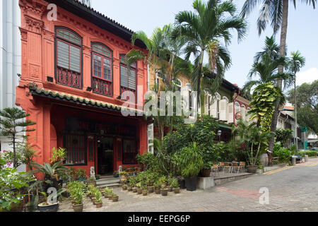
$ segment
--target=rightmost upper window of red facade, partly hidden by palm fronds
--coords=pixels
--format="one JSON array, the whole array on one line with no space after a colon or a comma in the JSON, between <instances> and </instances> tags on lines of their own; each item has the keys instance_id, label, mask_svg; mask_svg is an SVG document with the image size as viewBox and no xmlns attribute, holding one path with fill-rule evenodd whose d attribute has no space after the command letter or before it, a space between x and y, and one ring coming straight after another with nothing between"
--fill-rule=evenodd
<instances>
[{"instance_id":1,"label":"rightmost upper window of red facade, partly hidden by palm fronds","mask_svg":"<svg viewBox=\"0 0 318 226\"><path fill-rule=\"evenodd\" d=\"M137 64L131 64L130 68L126 66L126 57L125 54L120 54L120 93L124 91L131 91L135 95L136 102L136 79L137 79Z\"/></svg>"}]
</instances>

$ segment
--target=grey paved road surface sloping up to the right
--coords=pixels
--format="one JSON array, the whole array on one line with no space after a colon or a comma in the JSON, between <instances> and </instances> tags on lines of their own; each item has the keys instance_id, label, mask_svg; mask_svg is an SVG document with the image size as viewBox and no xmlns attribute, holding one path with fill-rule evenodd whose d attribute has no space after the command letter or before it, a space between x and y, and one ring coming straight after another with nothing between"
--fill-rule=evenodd
<instances>
[{"instance_id":1,"label":"grey paved road surface sloping up to the right","mask_svg":"<svg viewBox=\"0 0 318 226\"><path fill-rule=\"evenodd\" d=\"M259 189L269 189L269 204L259 203ZM102 208L94 208L86 198L84 211L318 211L318 159L307 164L285 167L271 172L215 186L206 191L135 195L121 189L119 202L105 199ZM73 211L64 203L59 211Z\"/></svg>"}]
</instances>

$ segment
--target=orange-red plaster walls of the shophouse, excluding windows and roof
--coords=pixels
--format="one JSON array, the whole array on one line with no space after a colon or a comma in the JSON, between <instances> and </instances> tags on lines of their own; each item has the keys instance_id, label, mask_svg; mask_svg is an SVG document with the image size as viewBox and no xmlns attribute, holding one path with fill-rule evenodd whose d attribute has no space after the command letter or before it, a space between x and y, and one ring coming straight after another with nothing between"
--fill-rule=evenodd
<instances>
[{"instance_id":1,"label":"orange-red plaster walls of the shophouse, excluding windows and roof","mask_svg":"<svg viewBox=\"0 0 318 226\"><path fill-rule=\"evenodd\" d=\"M34 132L30 132L30 144L39 150L36 161L39 163L49 162L53 147L61 145L59 139L59 121L62 112L54 112L53 102L45 98L35 98L30 94L28 84L35 82L38 88L58 91L77 97L91 100L109 102L114 105L122 105L122 100L117 100L120 95L119 88L119 55L126 54L132 49L131 44L121 37L117 37L107 30L69 13L63 8L57 8L57 20L47 19L46 1L20 0L21 9L21 78L16 88L16 105L30 113L29 119L36 121ZM55 81L54 28L62 26L78 33L83 39L83 88L76 89L66 85L59 85ZM113 52L113 96L106 97L86 91L91 86L91 42L100 42L112 49ZM138 47L136 47L138 48ZM140 49L140 48L139 48ZM145 53L146 50L142 49ZM47 76L54 78L53 82L47 81ZM147 64L139 61L137 64L137 85L142 85L143 94L147 91ZM74 106L71 106L74 107ZM95 109L90 109L92 112ZM98 110L101 112L100 110ZM102 112L108 114L108 112ZM92 113L93 114L93 113ZM117 118L118 119L118 118ZM58 121L57 121L58 120ZM63 120L61 120L63 121ZM136 120L135 120L136 121ZM138 119L136 124L139 128L139 145L141 152L147 150L147 123ZM118 162L119 163L119 162Z\"/></svg>"}]
</instances>

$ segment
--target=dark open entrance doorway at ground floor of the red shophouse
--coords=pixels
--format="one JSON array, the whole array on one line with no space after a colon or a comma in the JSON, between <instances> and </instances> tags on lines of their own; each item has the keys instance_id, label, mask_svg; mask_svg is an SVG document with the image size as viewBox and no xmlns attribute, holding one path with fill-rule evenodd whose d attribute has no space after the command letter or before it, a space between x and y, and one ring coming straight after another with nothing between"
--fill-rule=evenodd
<instances>
[{"instance_id":1,"label":"dark open entrance doorway at ground floor of the red shophouse","mask_svg":"<svg viewBox=\"0 0 318 226\"><path fill-rule=\"evenodd\" d=\"M111 175L114 168L114 138L98 139L98 174Z\"/></svg>"}]
</instances>

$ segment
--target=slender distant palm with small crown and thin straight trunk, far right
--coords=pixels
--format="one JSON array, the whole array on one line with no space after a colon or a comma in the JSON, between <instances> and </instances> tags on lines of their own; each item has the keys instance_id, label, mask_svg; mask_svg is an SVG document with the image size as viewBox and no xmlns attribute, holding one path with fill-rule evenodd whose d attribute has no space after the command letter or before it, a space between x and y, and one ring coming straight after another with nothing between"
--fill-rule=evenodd
<instances>
[{"instance_id":1,"label":"slender distant palm with small crown and thin straight trunk, far right","mask_svg":"<svg viewBox=\"0 0 318 226\"><path fill-rule=\"evenodd\" d=\"M294 92L295 92L295 135L294 135L294 143L296 144L296 151L298 152L298 140L297 140L297 95L296 95L296 73L300 71L302 66L305 66L305 57L302 57L299 51L292 52L289 61L288 68L290 73L293 73L294 76Z\"/></svg>"}]
</instances>

